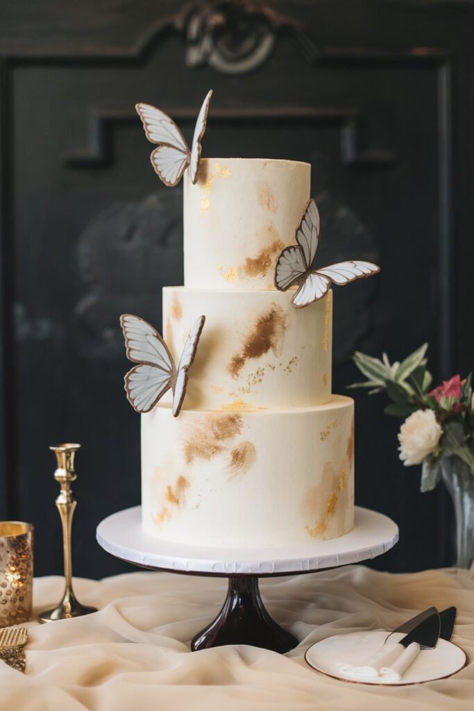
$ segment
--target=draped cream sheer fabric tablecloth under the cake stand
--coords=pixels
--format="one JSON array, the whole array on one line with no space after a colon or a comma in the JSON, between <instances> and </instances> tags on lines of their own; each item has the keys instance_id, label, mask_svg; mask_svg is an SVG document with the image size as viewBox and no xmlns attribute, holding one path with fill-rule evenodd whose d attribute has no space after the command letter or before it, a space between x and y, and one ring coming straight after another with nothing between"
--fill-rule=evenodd
<instances>
[{"instance_id":1,"label":"draped cream sheer fabric tablecloth under the cake stand","mask_svg":"<svg viewBox=\"0 0 474 711\"><path fill-rule=\"evenodd\" d=\"M225 579L153 572L76 579L77 597L99 612L28 623L26 674L0 662L0 709L473 711L472 573L350 566L260 583L270 614L301 640L285 656L249 646L190 652L190 638L220 609ZM62 592L61 578L36 579L36 612ZM304 661L306 648L327 636L393 629L426 606L453 604L453 641L468 665L446 680L373 688L330 679Z\"/></svg>"}]
</instances>

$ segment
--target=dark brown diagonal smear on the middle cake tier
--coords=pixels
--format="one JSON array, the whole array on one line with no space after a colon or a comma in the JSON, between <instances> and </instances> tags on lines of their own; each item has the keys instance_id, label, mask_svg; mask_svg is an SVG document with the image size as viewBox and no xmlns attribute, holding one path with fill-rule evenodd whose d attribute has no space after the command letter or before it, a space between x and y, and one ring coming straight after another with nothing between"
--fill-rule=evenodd
<instances>
[{"instance_id":1,"label":"dark brown diagonal smear on the middle cake tier","mask_svg":"<svg viewBox=\"0 0 474 711\"><path fill-rule=\"evenodd\" d=\"M260 358L269 351L280 355L286 326L286 315L281 306L271 304L269 311L257 317L252 330L244 338L241 351L234 355L227 366L232 378L238 377L247 360Z\"/></svg>"}]
</instances>

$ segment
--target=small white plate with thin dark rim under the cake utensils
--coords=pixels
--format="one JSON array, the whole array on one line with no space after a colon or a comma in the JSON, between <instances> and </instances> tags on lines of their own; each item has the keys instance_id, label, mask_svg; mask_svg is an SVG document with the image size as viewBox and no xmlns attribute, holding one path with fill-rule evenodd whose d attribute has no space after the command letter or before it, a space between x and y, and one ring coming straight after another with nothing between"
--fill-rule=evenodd
<instances>
[{"instance_id":1,"label":"small white plate with thin dark rim under the cake utensils","mask_svg":"<svg viewBox=\"0 0 474 711\"><path fill-rule=\"evenodd\" d=\"M360 665L368 659L384 643L389 632L370 630L366 632L351 632L339 634L316 642L306 651L306 661L313 669L336 679L349 681L353 684L383 684L387 686L406 686L424 681L443 679L455 674L463 668L466 661L465 653L456 644L439 639L434 649L422 649L414 662L406 670L398 682L383 678L373 681L354 681L340 675L341 664ZM390 640L397 641L404 635L392 635Z\"/></svg>"}]
</instances>

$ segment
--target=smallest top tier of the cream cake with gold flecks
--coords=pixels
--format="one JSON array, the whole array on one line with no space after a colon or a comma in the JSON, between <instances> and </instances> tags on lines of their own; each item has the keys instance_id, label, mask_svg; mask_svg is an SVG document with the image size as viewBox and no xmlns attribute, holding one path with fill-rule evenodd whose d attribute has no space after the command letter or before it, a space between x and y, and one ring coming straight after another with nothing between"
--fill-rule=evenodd
<instances>
[{"instance_id":1,"label":"smallest top tier of the cream cake with gold flecks","mask_svg":"<svg viewBox=\"0 0 474 711\"><path fill-rule=\"evenodd\" d=\"M195 185L185 171L185 287L274 289L310 189L311 166L298 161L204 158Z\"/></svg>"}]
</instances>

